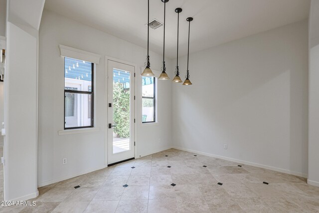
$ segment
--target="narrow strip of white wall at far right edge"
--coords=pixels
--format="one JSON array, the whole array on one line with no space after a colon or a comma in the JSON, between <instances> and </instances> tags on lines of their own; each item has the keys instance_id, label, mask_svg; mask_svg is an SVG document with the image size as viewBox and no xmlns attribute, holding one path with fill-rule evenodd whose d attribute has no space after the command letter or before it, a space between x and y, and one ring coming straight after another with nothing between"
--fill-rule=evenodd
<instances>
[{"instance_id":1,"label":"narrow strip of white wall at far right edge","mask_svg":"<svg viewBox=\"0 0 319 213\"><path fill-rule=\"evenodd\" d=\"M319 1L311 1L309 15L309 177L319 187Z\"/></svg>"}]
</instances>

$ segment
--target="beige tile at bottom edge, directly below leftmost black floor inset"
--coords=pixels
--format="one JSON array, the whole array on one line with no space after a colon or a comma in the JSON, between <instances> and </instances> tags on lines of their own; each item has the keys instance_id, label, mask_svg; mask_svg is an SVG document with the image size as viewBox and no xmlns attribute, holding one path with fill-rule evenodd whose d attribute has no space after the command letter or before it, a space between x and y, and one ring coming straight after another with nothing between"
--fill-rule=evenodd
<instances>
[{"instance_id":1,"label":"beige tile at bottom edge, directly below leftmost black floor inset","mask_svg":"<svg viewBox=\"0 0 319 213\"><path fill-rule=\"evenodd\" d=\"M90 202L61 202L52 213L83 213Z\"/></svg>"}]
</instances>

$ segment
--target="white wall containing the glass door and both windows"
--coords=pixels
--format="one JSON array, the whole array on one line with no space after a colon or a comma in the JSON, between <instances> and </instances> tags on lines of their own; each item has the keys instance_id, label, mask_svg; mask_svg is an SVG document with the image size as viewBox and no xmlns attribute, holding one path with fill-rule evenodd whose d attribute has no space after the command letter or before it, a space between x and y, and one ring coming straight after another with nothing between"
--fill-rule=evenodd
<instances>
[{"instance_id":1,"label":"white wall containing the glass door and both windows","mask_svg":"<svg viewBox=\"0 0 319 213\"><path fill-rule=\"evenodd\" d=\"M64 59L58 44L71 46L102 55L96 66L95 125L98 132L63 135ZM44 10L39 30L39 131L38 185L64 180L104 168L104 136L107 114L105 100L105 56L137 64L136 90L138 113L137 155L145 156L171 147L171 82L158 84L158 124L142 122L142 77L147 50L81 24L51 11ZM160 70L161 56L151 53L151 67ZM169 63L167 63L169 65ZM168 70L170 70L168 68ZM161 142L159 143L159 139ZM62 166L62 158L68 163Z\"/></svg>"}]
</instances>

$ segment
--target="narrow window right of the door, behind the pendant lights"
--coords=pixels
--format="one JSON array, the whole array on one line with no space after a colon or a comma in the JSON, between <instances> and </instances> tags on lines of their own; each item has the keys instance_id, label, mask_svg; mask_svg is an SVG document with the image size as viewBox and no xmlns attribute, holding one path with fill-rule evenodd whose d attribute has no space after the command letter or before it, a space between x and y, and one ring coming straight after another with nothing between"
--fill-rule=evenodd
<instances>
[{"instance_id":1,"label":"narrow window right of the door, behind the pendant lights","mask_svg":"<svg viewBox=\"0 0 319 213\"><path fill-rule=\"evenodd\" d=\"M155 122L155 77L142 77L142 123Z\"/></svg>"}]
</instances>

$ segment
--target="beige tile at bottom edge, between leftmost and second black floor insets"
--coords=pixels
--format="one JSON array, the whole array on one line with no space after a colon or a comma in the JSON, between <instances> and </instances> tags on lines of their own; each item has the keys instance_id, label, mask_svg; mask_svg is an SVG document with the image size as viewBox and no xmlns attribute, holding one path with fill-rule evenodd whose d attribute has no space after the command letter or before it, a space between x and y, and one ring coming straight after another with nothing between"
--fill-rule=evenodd
<instances>
[{"instance_id":1,"label":"beige tile at bottom edge, between leftmost and second black floor insets","mask_svg":"<svg viewBox=\"0 0 319 213\"><path fill-rule=\"evenodd\" d=\"M119 201L91 201L84 213L115 213Z\"/></svg>"}]
</instances>

